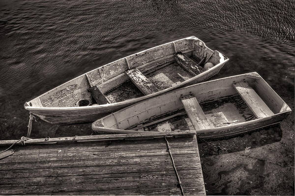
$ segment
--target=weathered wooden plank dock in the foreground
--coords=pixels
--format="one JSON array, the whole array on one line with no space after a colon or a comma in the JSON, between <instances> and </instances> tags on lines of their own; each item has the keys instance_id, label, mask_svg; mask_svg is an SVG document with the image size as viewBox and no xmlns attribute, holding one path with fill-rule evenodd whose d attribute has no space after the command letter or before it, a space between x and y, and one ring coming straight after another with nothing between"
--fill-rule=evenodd
<instances>
[{"instance_id":1,"label":"weathered wooden plank dock in the foreground","mask_svg":"<svg viewBox=\"0 0 295 196\"><path fill-rule=\"evenodd\" d=\"M165 137L184 195L206 195L195 131L19 142L0 160L0 195L181 195Z\"/></svg>"}]
</instances>

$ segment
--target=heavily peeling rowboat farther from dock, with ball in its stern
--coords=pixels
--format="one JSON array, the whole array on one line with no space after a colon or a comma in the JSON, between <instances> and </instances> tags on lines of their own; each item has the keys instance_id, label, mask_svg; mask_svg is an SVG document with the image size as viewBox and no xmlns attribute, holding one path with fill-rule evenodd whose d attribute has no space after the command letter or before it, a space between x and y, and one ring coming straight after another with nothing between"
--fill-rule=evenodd
<instances>
[{"instance_id":1,"label":"heavily peeling rowboat farther from dock, with ball in its stern","mask_svg":"<svg viewBox=\"0 0 295 196\"><path fill-rule=\"evenodd\" d=\"M205 81L228 60L200 39L187 37L91 70L26 102L25 108L49 123L93 122L141 100ZM214 66L204 70L206 63Z\"/></svg>"}]
</instances>

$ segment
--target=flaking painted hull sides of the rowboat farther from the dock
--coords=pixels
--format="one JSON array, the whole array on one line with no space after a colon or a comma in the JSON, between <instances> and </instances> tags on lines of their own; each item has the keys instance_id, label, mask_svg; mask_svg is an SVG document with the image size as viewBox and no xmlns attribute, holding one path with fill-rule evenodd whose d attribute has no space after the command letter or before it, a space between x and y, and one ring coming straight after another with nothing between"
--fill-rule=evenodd
<instances>
[{"instance_id":1,"label":"flaking painted hull sides of the rowboat farther from the dock","mask_svg":"<svg viewBox=\"0 0 295 196\"><path fill-rule=\"evenodd\" d=\"M197 43L200 43L200 46L205 48L207 52L211 52L211 54L214 57L212 58L212 61L213 60L217 61L214 67L196 76L193 76L187 80L177 83L176 85L172 85L171 87L167 89L160 90L156 93L152 93L146 96L127 99L127 100L116 102L116 103L102 104L102 105L94 104L94 105L82 106L82 107L77 107L73 105L79 99L89 99L89 98L91 99L91 95L87 91L89 86L88 86L88 82L86 78L89 79L92 85L97 85L98 87L100 87L103 93L107 92L111 88L113 88L110 85L113 85L114 83L116 83L116 85L118 83L119 85L120 83L126 80L126 74L124 71L128 68L139 67L139 69L146 71L149 65L153 65L155 67L155 66L159 66L160 64L165 64L169 61L174 60L173 54L175 49L173 49L172 47L173 44L174 46L176 45L179 48L177 49L177 51L181 49L181 51L183 52L189 51L189 53L191 54L194 54L194 53L197 54L198 51L196 51L197 49L194 49L194 48L197 46L199 47L199 45L197 46L193 45L193 49L187 46L189 45L187 43L191 43L191 42L196 44L195 41L198 41ZM167 54L163 53L162 50L160 50L159 48L160 49L163 48L163 50L165 50ZM152 52L155 52L155 55L153 55ZM148 60L145 59L145 56L147 56ZM215 58L217 58L217 60L215 60ZM33 113L34 115L37 115L38 117L40 117L42 120L49 123L53 123L53 124L73 124L73 123L93 122L98 118L101 118L112 112L118 111L119 109L127 107L131 104L137 103L139 101L143 101L145 99L148 99L157 95L161 95L163 93L166 93L171 90L175 90L177 88L181 88L191 84L196 84L202 81L206 81L210 77L216 75L228 60L229 59L224 57L218 51L212 51L208 49L207 46L198 38L188 37L188 38L180 39L167 44L163 44L163 45L145 50L143 52L136 53L134 55L130 55L116 62L110 63L108 65L104 65L102 67L89 71L86 74L83 74L77 78L74 78L73 80L70 80L69 82L62 84L59 87L37 98L34 98L31 101L28 101L27 103L25 103L25 108L29 110L31 113ZM138 61L140 61L140 63ZM124 62L125 63L127 62L128 67L127 65L122 65L122 67L124 68L121 68L120 63L124 63ZM114 71L111 72L110 67L113 68L112 70ZM118 69L122 69L122 70L118 71ZM104 71L109 74L104 73ZM98 79L95 78L97 77L96 73L99 73L98 75L100 78ZM113 78L110 78L110 73L114 74ZM73 88L74 90L71 90L71 88ZM57 94L59 97L57 96ZM70 106L67 106L66 104L64 104L67 102L68 102L68 105Z\"/></svg>"}]
</instances>

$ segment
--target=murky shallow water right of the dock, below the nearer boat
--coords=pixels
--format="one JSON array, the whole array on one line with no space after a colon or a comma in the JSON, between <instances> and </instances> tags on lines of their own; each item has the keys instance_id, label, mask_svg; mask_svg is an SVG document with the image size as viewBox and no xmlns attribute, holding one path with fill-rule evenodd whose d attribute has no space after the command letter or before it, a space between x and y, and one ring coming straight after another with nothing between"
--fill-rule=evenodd
<instances>
[{"instance_id":1,"label":"murky shallow water right of the dock, below the nearer boat","mask_svg":"<svg viewBox=\"0 0 295 196\"><path fill-rule=\"evenodd\" d=\"M294 112L288 121L210 141L230 153L199 142L207 195L292 195L294 180L287 176L294 177Z\"/></svg>"}]
</instances>

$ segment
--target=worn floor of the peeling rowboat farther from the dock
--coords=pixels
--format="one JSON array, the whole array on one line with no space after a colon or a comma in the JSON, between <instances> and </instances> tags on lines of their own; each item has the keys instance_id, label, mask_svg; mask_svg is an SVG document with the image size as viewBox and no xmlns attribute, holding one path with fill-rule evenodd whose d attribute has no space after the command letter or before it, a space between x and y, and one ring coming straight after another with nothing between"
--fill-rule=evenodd
<instances>
[{"instance_id":1,"label":"worn floor of the peeling rowboat farther from the dock","mask_svg":"<svg viewBox=\"0 0 295 196\"><path fill-rule=\"evenodd\" d=\"M193 58L191 57L191 59ZM194 59L194 61L197 60ZM158 91L167 89L177 82L183 82L184 80L193 77L191 73L178 65L177 62L162 66L144 76ZM131 80L122 83L117 88L105 94L111 103L124 101L130 98L139 98L144 95L145 94L141 92L140 88Z\"/></svg>"}]
</instances>

